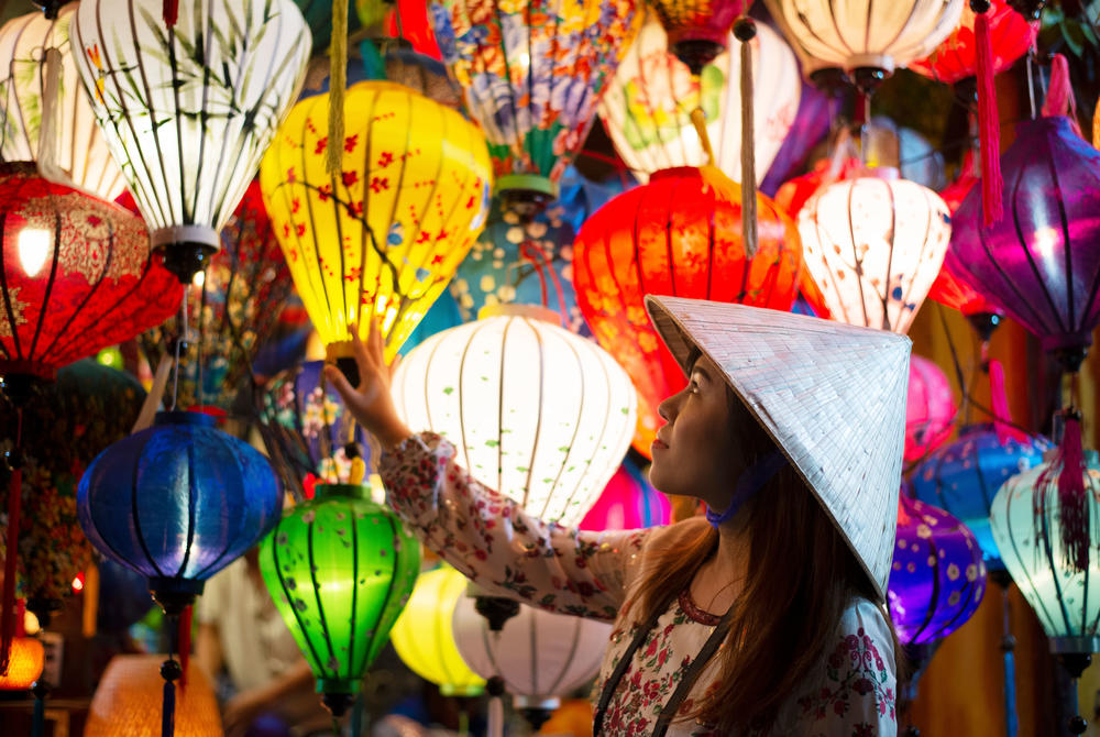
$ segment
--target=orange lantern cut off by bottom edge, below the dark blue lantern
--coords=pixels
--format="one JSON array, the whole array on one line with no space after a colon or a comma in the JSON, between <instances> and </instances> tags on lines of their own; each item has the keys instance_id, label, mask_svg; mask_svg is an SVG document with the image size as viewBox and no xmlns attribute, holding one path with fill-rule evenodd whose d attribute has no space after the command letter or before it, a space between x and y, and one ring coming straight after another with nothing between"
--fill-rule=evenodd
<instances>
[{"instance_id":1,"label":"orange lantern cut off by bottom edge, below the dark blue lantern","mask_svg":"<svg viewBox=\"0 0 1100 737\"><path fill-rule=\"evenodd\" d=\"M161 733L161 663L164 656L116 656L88 707L85 737L150 737ZM221 737L218 700L194 659L187 688L176 689L175 737Z\"/></svg>"}]
</instances>

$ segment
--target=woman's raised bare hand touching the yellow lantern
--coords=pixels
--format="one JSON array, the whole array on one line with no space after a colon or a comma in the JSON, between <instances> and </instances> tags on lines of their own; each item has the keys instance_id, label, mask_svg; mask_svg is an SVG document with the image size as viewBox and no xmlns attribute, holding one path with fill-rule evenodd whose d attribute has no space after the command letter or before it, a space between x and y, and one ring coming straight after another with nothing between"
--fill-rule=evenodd
<instances>
[{"instance_id":1,"label":"woman's raised bare hand touching the yellow lantern","mask_svg":"<svg viewBox=\"0 0 1100 737\"><path fill-rule=\"evenodd\" d=\"M352 388L348 378L338 367L324 366L324 378L336 387L352 417L373 435L383 448L391 449L413 435L397 416L397 408L391 395L393 365L386 365L382 350L382 328L377 320L371 323L371 332L364 343L359 339L359 329L352 326L352 352L359 366L359 386Z\"/></svg>"}]
</instances>

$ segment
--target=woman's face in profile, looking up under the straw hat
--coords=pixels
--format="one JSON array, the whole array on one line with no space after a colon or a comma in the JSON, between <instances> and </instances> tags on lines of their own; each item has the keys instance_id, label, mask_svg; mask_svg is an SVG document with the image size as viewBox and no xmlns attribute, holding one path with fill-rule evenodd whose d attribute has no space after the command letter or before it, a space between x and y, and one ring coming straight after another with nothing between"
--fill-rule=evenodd
<instances>
[{"instance_id":1,"label":"woman's face in profile, looking up under the straw hat","mask_svg":"<svg viewBox=\"0 0 1100 737\"><path fill-rule=\"evenodd\" d=\"M666 494L695 496L719 510L728 506L746 465L722 376L701 355L688 386L661 403L658 411L666 425L651 446L649 470L650 483Z\"/></svg>"}]
</instances>

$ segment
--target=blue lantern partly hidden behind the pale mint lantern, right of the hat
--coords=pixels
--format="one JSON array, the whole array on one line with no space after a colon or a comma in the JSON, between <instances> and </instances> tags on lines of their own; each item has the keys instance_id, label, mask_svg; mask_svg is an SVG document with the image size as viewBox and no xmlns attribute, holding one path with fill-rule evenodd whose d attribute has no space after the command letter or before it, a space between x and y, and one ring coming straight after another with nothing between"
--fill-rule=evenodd
<instances>
[{"instance_id":1,"label":"blue lantern partly hidden behind the pale mint lantern, right of the hat","mask_svg":"<svg viewBox=\"0 0 1100 737\"><path fill-rule=\"evenodd\" d=\"M1038 465L1049 447L1040 436L972 425L913 470L913 491L919 499L963 520L978 540L990 570L1001 570L1002 551L989 531L989 505L1001 484Z\"/></svg>"}]
</instances>

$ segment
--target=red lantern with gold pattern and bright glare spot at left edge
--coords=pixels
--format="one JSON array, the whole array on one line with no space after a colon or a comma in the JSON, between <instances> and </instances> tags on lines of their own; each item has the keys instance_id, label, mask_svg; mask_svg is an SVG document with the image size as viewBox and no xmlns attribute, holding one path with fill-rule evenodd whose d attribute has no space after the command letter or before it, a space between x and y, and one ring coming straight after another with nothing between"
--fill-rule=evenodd
<instances>
[{"instance_id":1,"label":"red lantern with gold pattern and bright glare spot at left edge","mask_svg":"<svg viewBox=\"0 0 1100 737\"><path fill-rule=\"evenodd\" d=\"M180 288L150 252L141 220L0 164L0 374L51 380L59 366L163 321Z\"/></svg>"}]
</instances>

